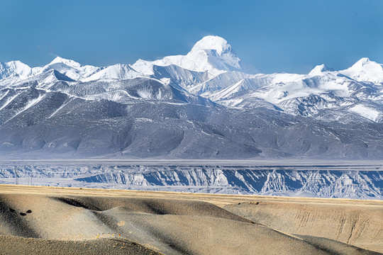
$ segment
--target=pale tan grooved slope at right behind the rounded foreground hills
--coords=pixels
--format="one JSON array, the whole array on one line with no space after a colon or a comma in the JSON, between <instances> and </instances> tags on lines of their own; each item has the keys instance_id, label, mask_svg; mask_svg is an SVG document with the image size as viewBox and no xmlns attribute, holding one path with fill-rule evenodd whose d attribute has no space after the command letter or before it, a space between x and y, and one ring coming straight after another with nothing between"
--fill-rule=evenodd
<instances>
[{"instance_id":1,"label":"pale tan grooved slope at right behind the rounded foreground hills","mask_svg":"<svg viewBox=\"0 0 383 255\"><path fill-rule=\"evenodd\" d=\"M342 204L343 202L343 204ZM226 205L229 212L241 215L278 231L326 237L365 249L382 251L383 211L376 205L360 208L338 201L334 208L328 200L315 203L260 201Z\"/></svg>"}]
</instances>

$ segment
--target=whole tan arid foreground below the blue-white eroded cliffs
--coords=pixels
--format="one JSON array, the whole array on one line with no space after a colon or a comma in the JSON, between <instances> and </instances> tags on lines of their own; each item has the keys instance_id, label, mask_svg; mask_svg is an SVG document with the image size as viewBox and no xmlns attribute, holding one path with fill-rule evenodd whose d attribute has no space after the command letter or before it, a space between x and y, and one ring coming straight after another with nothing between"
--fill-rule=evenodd
<instances>
[{"instance_id":1,"label":"whole tan arid foreground below the blue-white eroded cliffs","mask_svg":"<svg viewBox=\"0 0 383 255\"><path fill-rule=\"evenodd\" d=\"M0 186L1 254L379 254L383 201Z\"/></svg>"}]
</instances>

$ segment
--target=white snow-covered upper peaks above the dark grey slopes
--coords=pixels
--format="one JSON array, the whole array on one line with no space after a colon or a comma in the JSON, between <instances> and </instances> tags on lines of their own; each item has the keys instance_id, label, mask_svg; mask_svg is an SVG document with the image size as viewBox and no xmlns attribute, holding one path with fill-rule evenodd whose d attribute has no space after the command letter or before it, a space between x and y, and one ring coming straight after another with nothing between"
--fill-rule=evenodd
<instances>
[{"instance_id":1,"label":"white snow-covered upper peaks above the dark grey slopes","mask_svg":"<svg viewBox=\"0 0 383 255\"><path fill-rule=\"evenodd\" d=\"M74 80L68 84L99 79L113 81L110 89L113 87L115 94L110 92L107 96L113 101L134 98L121 93L114 81L145 77L235 108L272 103L297 114L297 102L311 100L308 107L316 110L355 105L349 109L350 113L382 121L379 111L374 109L382 108L383 65L367 57L340 71L321 64L309 74L253 74L225 39L209 35L196 42L187 55L167 56L155 61L138 60L132 65L83 66L62 57L56 57L44 67L30 68L20 61L0 63L0 88L24 87L27 82L37 81L38 87L49 89L60 77L52 75L52 70ZM138 93L142 98L152 98L145 89ZM98 96L105 98L105 95ZM156 98L162 98L162 95ZM371 107L360 101L370 103L367 105Z\"/></svg>"}]
</instances>

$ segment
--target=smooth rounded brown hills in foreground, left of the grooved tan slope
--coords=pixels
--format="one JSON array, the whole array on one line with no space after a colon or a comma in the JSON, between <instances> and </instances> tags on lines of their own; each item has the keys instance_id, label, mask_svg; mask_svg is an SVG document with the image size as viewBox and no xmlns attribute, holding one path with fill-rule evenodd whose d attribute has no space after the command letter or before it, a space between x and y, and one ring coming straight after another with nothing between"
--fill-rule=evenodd
<instances>
[{"instance_id":1,"label":"smooth rounded brown hills in foreground, left of the grooved tan slope","mask_svg":"<svg viewBox=\"0 0 383 255\"><path fill-rule=\"evenodd\" d=\"M0 234L61 241L116 238L162 254L374 254L279 232L199 200L1 195ZM27 212L21 216L18 213Z\"/></svg>"}]
</instances>

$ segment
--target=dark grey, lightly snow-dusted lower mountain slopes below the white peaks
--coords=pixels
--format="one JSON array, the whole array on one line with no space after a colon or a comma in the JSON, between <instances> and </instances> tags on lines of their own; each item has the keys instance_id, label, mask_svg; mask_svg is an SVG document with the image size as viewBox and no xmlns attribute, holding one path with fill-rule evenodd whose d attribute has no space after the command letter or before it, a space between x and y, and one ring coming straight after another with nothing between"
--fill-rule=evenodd
<instances>
[{"instance_id":1,"label":"dark grey, lightly snow-dusted lower mountain slopes below the white peaks","mask_svg":"<svg viewBox=\"0 0 383 255\"><path fill-rule=\"evenodd\" d=\"M49 86L1 90L2 156L383 158L382 123L228 108L145 78Z\"/></svg>"}]
</instances>

